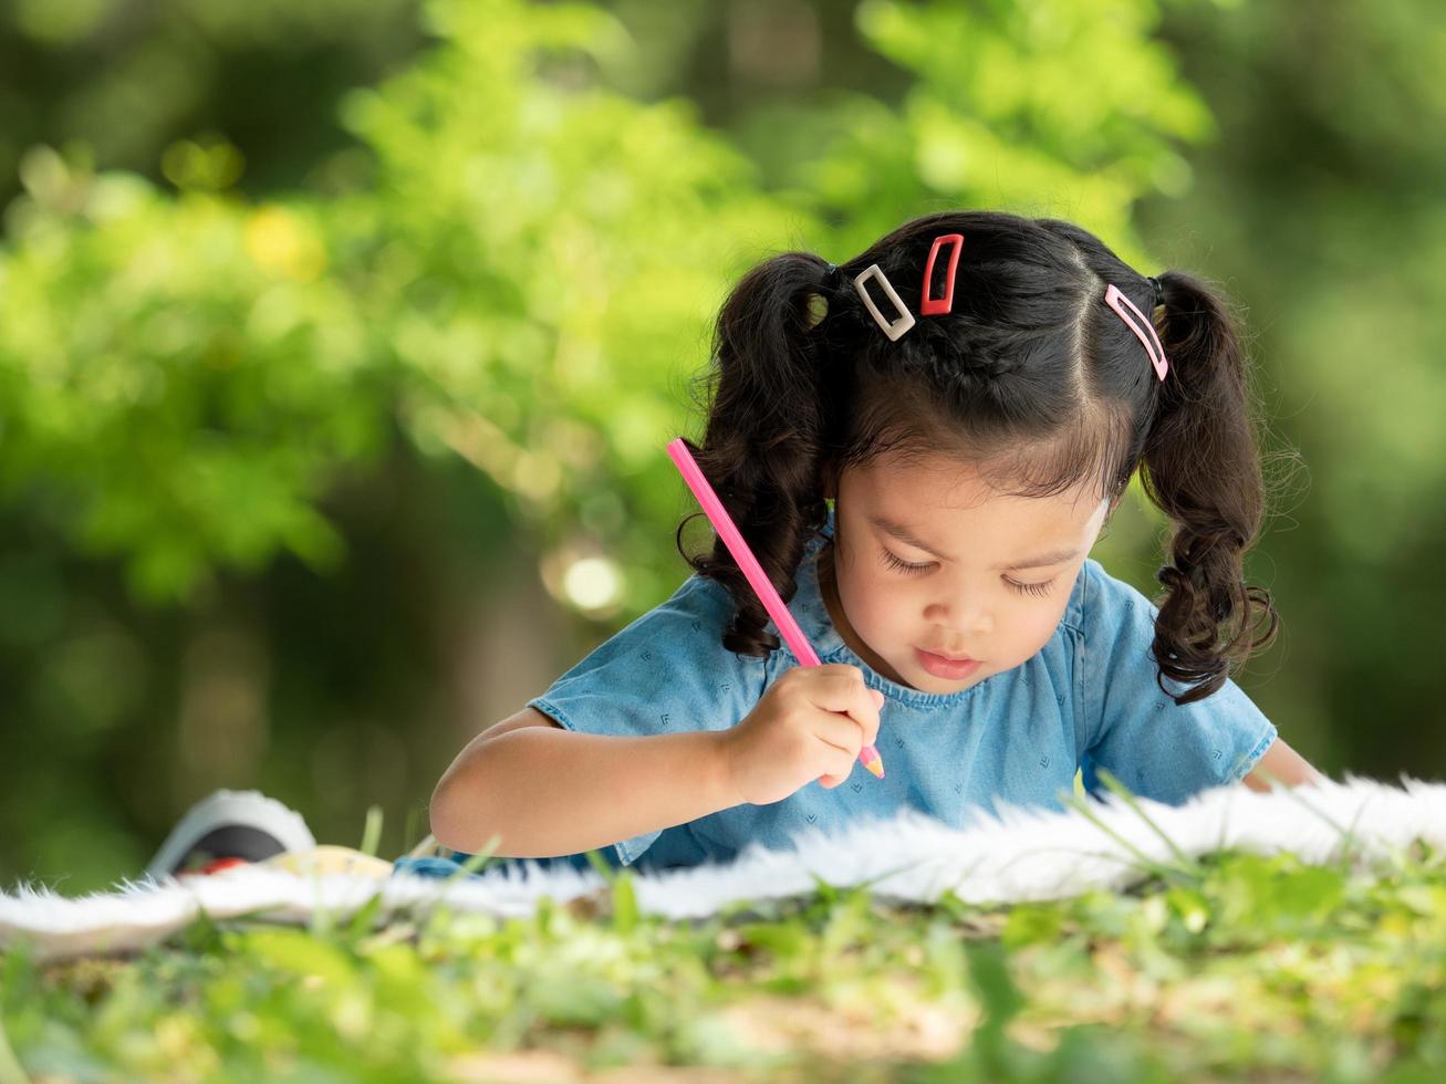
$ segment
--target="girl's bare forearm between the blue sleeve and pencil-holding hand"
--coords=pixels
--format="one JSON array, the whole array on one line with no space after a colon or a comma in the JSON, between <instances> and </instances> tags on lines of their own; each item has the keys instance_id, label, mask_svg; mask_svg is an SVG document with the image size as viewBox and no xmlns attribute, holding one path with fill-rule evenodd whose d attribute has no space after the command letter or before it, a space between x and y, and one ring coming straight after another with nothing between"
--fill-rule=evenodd
<instances>
[{"instance_id":1,"label":"girl's bare forearm between the blue sleeve and pencil-holding hand","mask_svg":"<svg viewBox=\"0 0 1446 1084\"><path fill-rule=\"evenodd\" d=\"M432 792L442 847L548 859L606 847L737 805L720 739L727 731L646 737L564 730L536 708L474 737Z\"/></svg>"}]
</instances>

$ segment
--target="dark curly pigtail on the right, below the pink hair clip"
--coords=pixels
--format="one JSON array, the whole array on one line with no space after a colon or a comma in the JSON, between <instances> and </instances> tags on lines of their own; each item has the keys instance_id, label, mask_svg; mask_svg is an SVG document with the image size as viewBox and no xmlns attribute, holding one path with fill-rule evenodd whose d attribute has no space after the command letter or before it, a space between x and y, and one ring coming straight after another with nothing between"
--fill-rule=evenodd
<instances>
[{"instance_id":1,"label":"dark curly pigtail on the right, below the pink hair clip","mask_svg":"<svg viewBox=\"0 0 1446 1084\"><path fill-rule=\"evenodd\" d=\"M1203 700L1275 639L1270 591L1245 582L1265 494L1245 357L1223 304L1193 276L1161 276L1164 318L1155 327L1170 358L1158 387L1139 480L1173 520L1167 588L1155 620L1160 688L1177 704ZM1262 620L1268 629L1251 639ZM1225 637L1222 642L1222 626ZM1193 684L1176 697L1164 676Z\"/></svg>"}]
</instances>

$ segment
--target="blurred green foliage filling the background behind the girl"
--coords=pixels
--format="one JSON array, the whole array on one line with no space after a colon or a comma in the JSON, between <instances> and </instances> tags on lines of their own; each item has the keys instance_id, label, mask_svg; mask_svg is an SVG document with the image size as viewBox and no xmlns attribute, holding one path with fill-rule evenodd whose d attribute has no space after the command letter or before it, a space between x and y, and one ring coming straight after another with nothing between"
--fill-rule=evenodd
<instances>
[{"instance_id":1,"label":"blurred green foliage filling the background behind the girl","mask_svg":"<svg viewBox=\"0 0 1446 1084\"><path fill-rule=\"evenodd\" d=\"M1325 23L1407 48L1403 7ZM662 448L697 432L690 380L736 276L790 247L844 259L957 205L1071 218L1144 273L1225 279L1262 314L1258 361L1290 396L1267 409L1332 481L1299 510L1312 530L1252 558L1287 636L1268 682L1241 681L1326 770L1365 749L1378 769L1442 763L1434 736L1352 739L1346 707L1394 695L1378 736L1406 740L1434 688L1395 648L1413 630L1424 661L1439 593L1390 590L1407 556L1429 568L1442 512L1430 330L1401 319L1427 296L1432 234L1390 217L1392 192L1420 189L1411 169L1287 204L1312 149L1343 158L1361 133L1394 160L1407 130L1281 119L1329 111L1307 98L1333 71L1310 39L1251 32L1294 27L1283 4L1178 3L1160 26L1150 0L171 0L146 17L139 35L104 0L20 4L0 39L38 91L16 94L12 68L0 95L30 133L0 145L17 182L0 246L6 879L132 873L218 785L275 793L322 838L373 802L393 827L409 811L382 844L403 848L466 736L541 691L467 715L469 598L521 572L574 611L541 681L685 574L672 532L693 506ZM1242 94L1251 78L1270 94ZM161 103L114 106L152 87ZM189 104L162 116L178 88ZM1242 139L1261 113L1274 126ZM1439 223L1416 205L1417 228ZM1323 227L1346 221L1371 228ZM1381 240L1420 253L1414 293L1361 275ZM1379 397L1361 392L1366 345L1388 347ZM1137 502L1096 552L1152 591L1161 530Z\"/></svg>"}]
</instances>

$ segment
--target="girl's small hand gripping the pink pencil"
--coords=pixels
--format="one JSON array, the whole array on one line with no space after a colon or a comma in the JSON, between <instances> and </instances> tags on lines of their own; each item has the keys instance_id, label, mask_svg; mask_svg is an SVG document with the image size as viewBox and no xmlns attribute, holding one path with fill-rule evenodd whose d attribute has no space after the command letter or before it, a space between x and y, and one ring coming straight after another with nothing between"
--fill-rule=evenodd
<instances>
[{"instance_id":1,"label":"girl's small hand gripping the pink pencil","mask_svg":"<svg viewBox=\"0 0 1446 1084\"><path fill-rule=\"evenodd\" d=\"M769 805L817 779L834 788L879 733L884 694L842 662L794 666L775 681L719 750L739 804Z\"/></svg>"}]
</instances>

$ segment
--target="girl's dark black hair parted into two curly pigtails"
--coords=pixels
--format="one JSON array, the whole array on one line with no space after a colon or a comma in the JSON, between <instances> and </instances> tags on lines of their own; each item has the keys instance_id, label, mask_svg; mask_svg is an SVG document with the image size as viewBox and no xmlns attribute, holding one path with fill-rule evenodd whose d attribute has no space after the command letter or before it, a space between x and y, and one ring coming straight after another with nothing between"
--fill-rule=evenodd
<instances>
[{"instance_id":1,"label":"girl's dark black hair parted into two curly pigtails","mask_svg":"<svg viewBox=\"0 0 1446 1084\"><path fill-rule=\"evenodd\" d=\"M930 249L951 233L964 236L951 311L921 315ZM944 293L949 254L944 246L936 259L930 296ZM873 263L915 317L898 341L853 288ZM1232 661L1274 642L1270 591L1244 580L1265 494L1246 358L1222 293L1168 270L1157 311L1154 285L1089 231L996 211L915 218L829 269L787 251L743 275L698 379L703 444L687 442L785 601L827 522L824 481L844 468L947 454L975 463L1001 493L1044 497L1092 483L1113 507L1138 467L1173 522L1157 575L1167 588L1152 645L1160 688L1178 704L1203 700ZM1111 283L1151 317L1170 360L1163 382L1105 304ZM897 315L876 280L866 288L886 319ZM766 656L778 637L763 632L768 611L723 541L714 536L709 554L683 551L698 515L678 526L678 549L736 603L723 646ZM1251 639L1261 620L1268 629ZM1164 675L1192 688L1174 695Z\"/></svg>"}]
</instances>

